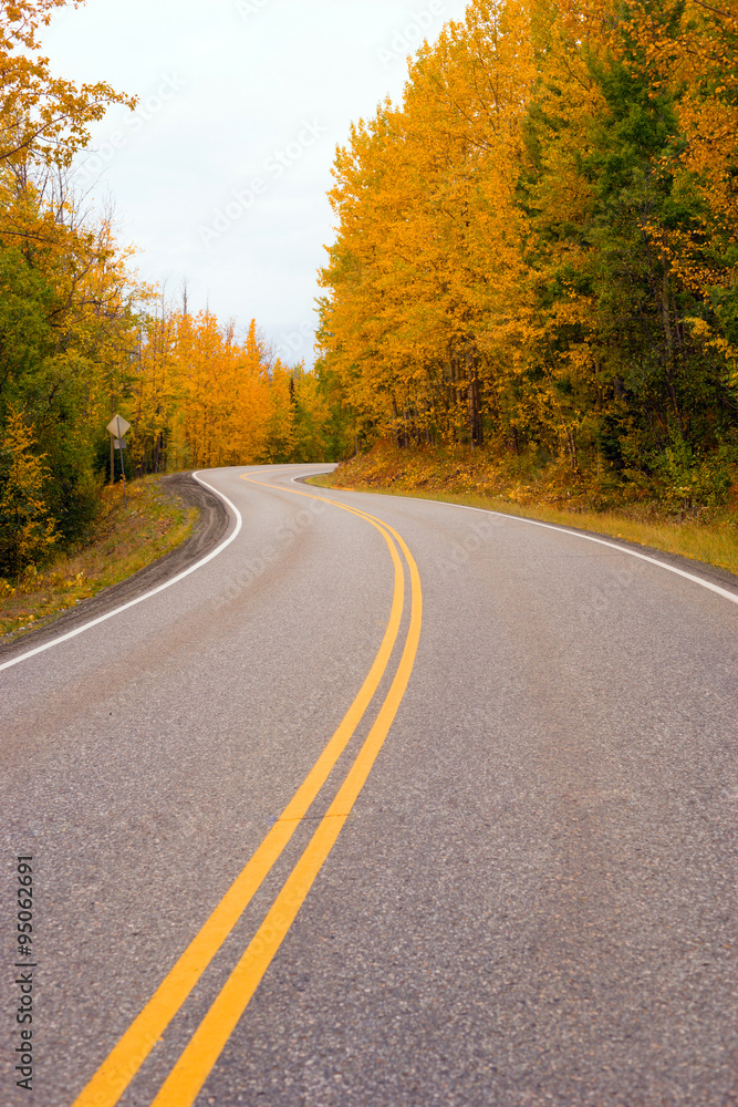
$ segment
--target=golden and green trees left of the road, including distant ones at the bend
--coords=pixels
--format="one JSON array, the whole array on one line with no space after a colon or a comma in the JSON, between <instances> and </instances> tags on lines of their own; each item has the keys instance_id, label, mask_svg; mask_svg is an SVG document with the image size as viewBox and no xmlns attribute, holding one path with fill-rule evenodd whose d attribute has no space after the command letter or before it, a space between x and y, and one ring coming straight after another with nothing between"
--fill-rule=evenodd
<instances>
[{"instance_id":1,"label":"golden and green trees left of the road, including distant ones at the bend","mask_svg":"<svg viewBox=\"0 0 738 1107\"><path fill-rule=\"evenodd\" d=\"M188 309L141 281L108 213L75 188L90 125L135 99L55 77L40 32L65 0L0 10L0 578L84 542L111 478L111 415L128 477L323 461L332 415L254 321ZM119 454L114 476L119 477Z\"/></svg>"}]
</instances>

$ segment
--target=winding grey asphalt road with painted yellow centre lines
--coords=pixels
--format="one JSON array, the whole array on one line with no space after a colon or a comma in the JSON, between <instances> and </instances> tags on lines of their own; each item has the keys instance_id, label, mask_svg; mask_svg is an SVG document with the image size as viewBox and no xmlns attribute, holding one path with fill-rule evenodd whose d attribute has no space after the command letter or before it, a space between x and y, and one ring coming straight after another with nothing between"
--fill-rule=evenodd
<instances>
[{"instance_id":1,"label":"winding grey asphalt road with painted yellow centre lines","mask_svg":"<svg viewBox=\"0 0 738 1107\"><path fill-rule=\"evenodd\" d=\"M738 1104L738 581L310 470L0 671L0 1103Z\"/></svg>"}]
</instances>

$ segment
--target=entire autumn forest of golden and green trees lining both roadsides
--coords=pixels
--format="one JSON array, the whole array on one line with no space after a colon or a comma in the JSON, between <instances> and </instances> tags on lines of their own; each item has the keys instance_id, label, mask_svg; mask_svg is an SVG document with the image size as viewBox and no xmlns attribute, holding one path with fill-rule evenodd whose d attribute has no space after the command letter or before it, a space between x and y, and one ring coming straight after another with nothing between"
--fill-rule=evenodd
<instances>
[{"instance_id":1,"label":"entire autumn forest of golden and green trees lining both roadsides","mask_svg":"<svg viewBox=\"0 0 738 1107\"><path fill-rule=\"evenodd\" d=\"M314 372L143 282L75 192L136 101L50 71L65 2L0 0L0 577L85 540L114 412L129 476L391 443L736 497L735 0L474 0L336 151Z\"/></svg>"}]
</instances>

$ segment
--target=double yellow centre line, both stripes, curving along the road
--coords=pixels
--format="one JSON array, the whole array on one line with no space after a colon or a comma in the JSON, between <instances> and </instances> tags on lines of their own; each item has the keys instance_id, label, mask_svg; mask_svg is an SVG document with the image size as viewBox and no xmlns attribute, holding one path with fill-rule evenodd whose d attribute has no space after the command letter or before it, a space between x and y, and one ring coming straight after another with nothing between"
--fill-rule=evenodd
<instances>
[{"instance_id":1,"label":"double yellow centre line, both stripes, curving along the road","mask_svg":"<svg viewBox=\"0 0 738 1107\"><path fill-rule=\"evenodd\" d=\"M267 485L249 477L242 479L249 480L251 484L263 485L270 492L276 490L273 485ZM117 1104L236 927L252 897L290 841L300 825L300 820L304 818L309 807L328 780L331 770L355 733L380 686L399 634L405 597L405 571L398 550L402 550L409 569L412 606L405 645L389 691L333 803L321 819L318 829L287 878L246 952L162 1085L152 1107L190 1107L197 1098L292 925L325 858L331 852L341 828L372 770L405 694L417 653L423 617L420 578L407 546L388 524L376 519L366 511L292 488L280 488L279 490L329 503L333 507L365 519L382 534L395 569L392 609L382 644L366 680L341 725L280 818L226 892L202 929L159 984L144 1010L80 1093L72 1107L114 1107Z\"/></svg>"}]
</instances>

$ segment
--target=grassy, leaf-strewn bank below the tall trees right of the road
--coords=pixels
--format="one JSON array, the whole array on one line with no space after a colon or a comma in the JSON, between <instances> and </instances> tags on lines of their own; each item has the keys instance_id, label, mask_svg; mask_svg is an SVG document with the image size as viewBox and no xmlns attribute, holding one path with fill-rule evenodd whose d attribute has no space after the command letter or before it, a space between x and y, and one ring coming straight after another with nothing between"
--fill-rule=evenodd
<instances>
[{"instance_id":1,"label":"grassy, leaf-strewn bank below the tall trees right of the road","mask_svg":"<svg viewBox=\"0 0 738 1107\"><path fill-rule=\"evenodd\" d=\"M482 476L470 472L470 467L459 464L458 459L437 457L426 457L425 463L398 468L391 464L393 457L393 451L380 451L374 459L371 454L363 455L344 462L334 473L311 477L309 483L324 488L415 496L555 523L622 538L666 554L678 554L738 575L738 507L716 508L683 521L659 515L652 504L602 511L569 508L545 503L550 486L538 489L540 500L537 501L534 485L510 479L500 470L488 470ZM488 482L498 488L474 487L475 483L485 485Z\"/></svg>"}]
</instances>

